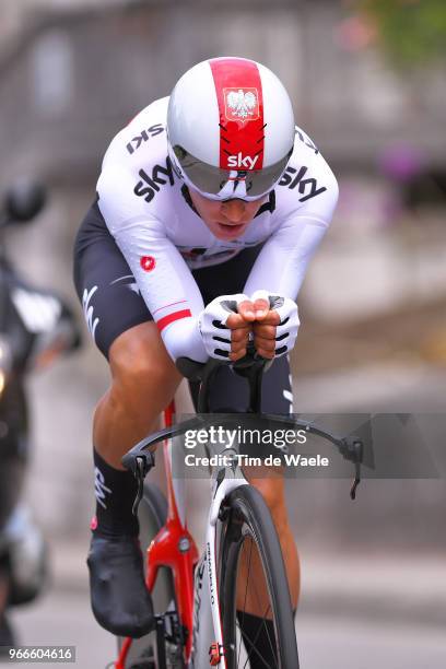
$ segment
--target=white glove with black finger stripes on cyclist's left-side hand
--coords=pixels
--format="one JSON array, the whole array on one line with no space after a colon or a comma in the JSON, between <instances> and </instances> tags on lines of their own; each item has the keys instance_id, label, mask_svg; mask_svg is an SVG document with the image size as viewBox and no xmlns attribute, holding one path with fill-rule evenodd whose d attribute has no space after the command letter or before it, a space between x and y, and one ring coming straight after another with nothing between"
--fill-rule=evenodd
<instances>
[{"instance_id":1,"label":"white glove with black finger stripes on cyclist's left-side hand","mask_svg":"<svg viewBox=\"0 0 446 669\"><path fill-rule=\"evenodd\" d=\"M208 355L227 360L231 353L231 329L226 320L237 314L238 304L248 300L243 293L221 295L208 304L198 317L198 327Z\"/></svg>"}]
</instances>

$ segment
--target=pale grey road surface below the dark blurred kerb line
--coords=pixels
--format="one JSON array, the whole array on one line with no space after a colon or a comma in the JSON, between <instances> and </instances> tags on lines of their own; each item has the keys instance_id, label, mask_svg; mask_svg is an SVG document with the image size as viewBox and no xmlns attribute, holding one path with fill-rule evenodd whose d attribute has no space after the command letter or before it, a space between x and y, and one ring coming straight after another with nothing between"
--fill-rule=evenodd
<instances>
[{"instance_id":1,"label":"pale grey road surface below the dark blurred kerb line","mask_svg":"<svg viewBox=\"0 0 446 669\"><path fill-rule=\"evenodd\" d=\"M84 591L69 597L54 592L38 606L17 612L15 620L24 644L75 645L75 666L82 669L105 669L114 658L114 639L95 624ZM446 637L439 626L390 625L387 620L379 623L362 618L302 613L297 634L303 669L443 669L446 666ZM36 665L21 664L21 667Z\"/></svg>"}]
</instances>

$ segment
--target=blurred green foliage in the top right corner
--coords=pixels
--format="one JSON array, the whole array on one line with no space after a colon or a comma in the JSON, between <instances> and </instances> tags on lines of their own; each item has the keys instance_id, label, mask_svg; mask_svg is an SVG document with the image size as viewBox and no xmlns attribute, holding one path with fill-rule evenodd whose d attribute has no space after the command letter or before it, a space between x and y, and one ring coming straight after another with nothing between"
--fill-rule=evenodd
<instances>
[{"instance_id":1,"label":"blurred green foliage in the top right corner","mask_svg":"<svg viewBox=\"0 0 446 669\"><path fill-rule=\"evenodd\" d=\"M446 0L355 0L391 62L414 69L446 60Z\"/></svg>"}]
</instances>

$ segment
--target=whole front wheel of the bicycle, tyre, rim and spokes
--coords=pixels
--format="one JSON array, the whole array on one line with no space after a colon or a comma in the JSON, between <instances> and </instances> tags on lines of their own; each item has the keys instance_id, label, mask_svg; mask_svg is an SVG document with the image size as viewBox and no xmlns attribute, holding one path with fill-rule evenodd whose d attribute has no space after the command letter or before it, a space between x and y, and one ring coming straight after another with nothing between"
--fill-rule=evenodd
<instances>
[{"instance_id":1,"label":"whole front wheel of the bicycle, tyre, rim and spokes","mask_svg":"<svg viewBox=\"0 0 446 669\"><path fill-rule=\"evenodd\" d=\"M227 669L248 666L251 669L254 667L298 669L286 573L269 509L261 494L250 485L237 488L225 502L227 506L222 507L221 514L223 526L218 548L218 573ZM254 576L251 567L256 561L257 568ZM259 564L262 582L259 578ZM246 596L240 598L240 591L246 592ZM245 607L250 602L253 610L253 602L256 601L258 601L256 617L263 621L260 626L265 630L262 635L263 639L267 637L272 661L265 660L265 656L257 650L253 639L243 633L237 620L236 610L243 619ZM267 619L272 621L272 625L269 624L268 627L265 624Z\"/></svg>"}]
</instances>

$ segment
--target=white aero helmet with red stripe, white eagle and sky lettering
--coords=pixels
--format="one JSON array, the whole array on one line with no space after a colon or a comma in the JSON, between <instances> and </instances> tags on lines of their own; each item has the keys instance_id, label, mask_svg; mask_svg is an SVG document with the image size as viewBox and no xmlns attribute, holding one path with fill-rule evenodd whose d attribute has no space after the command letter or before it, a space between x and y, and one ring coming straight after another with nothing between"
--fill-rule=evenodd
<instances>
[{"instance_id":1,"label":"white aero helmet with red stripe, white eagle and sky lettering","mask_svg":"<svg viewBox=\"0 0 446 669\"><path fill-rule=\"evenodd\" d=\"M281 81L246 58L188 70L167 110L169 156L188 186L213 200L257 200L273 189L294 144L293 107Z\"/></svg>"}]
</instances>

